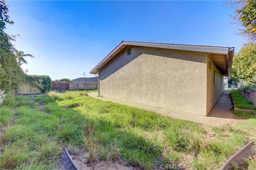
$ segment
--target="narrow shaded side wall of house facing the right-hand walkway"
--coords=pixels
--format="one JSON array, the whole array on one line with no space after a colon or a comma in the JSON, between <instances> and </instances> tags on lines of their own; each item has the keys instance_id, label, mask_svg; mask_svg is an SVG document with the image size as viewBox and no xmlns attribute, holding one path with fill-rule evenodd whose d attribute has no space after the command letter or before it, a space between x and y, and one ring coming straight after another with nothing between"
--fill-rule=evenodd
<instances>
[{"instance_id":1,"label":"narrow shaded side wall of house facing the right-hand walkway","mask_svg":"<svg viewBox=\"0 0 256 170\"><path fill-rule=\"evenodd\" d=\"M221 96L223 92L223 75L222 73L217 69L215 64L211 61L210 57L207 57L207 63L209 61L212 63L211 69L209 69L207 64L207 108L206 112L209 114L214 104L217 102L219 97ZM214 84L214 70L217 74L217 82Z\"/></svg>"}]
</instances>

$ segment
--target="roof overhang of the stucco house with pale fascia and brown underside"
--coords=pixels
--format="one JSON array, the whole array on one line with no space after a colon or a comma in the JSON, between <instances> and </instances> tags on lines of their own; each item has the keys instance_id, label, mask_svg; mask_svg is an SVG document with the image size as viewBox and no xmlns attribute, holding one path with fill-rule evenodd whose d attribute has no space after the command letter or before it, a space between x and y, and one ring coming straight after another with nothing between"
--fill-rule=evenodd
<instances>
[{"instance_id":1,"label":"roof overhang of the stucco house with pale fascia and brown underside","mask_svg":"<svg viewBox=\"0 0 256 170\"><path fill-rule=\"evenodd\" d=\"M230 76L231 65L234 55L234 47L215 47L215 46L195 46L195 45L179 45L179 44L162 44L162 43L142 43L142 42L133 42L133 41L122 41L111 53L109 53L94 69L90 72L91 74L98 74L99 70L105 66L110 60L112 60L119 52L121 52L126 46L142 46L142 47L154 47L154 48L164 48L164 49L177 49L177 50L188 50L194 52L204 52L209 53L212 60L213 58L218 63L222 64L220 66L222 69L220 71L223 74ZM214 55L213 55L214 54ZM222 56L222 58L220 58ZM223 60L223 56L226 56L226 59ZM218 58L219 57L219 58ZM226 63L223 63L226 61ZM214 62L214 60L213 60ZM215 62L214 62L215 63ZM215 65L218 64L215 63ZM226 65L226 69L223 67Z\"/></svg>"}]
</instances>

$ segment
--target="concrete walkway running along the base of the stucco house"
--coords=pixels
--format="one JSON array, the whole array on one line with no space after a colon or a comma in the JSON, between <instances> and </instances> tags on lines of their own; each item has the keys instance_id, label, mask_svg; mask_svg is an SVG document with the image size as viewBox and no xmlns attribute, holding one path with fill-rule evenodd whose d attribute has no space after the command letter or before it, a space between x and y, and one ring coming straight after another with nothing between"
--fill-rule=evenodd
<instances>
[{"instance_id":1,"label":"concrete walkway running along the base of the stucco house","mask_svg":"<svg viewBox=\"0 0 256 170\"><path fill-rule=\"evenodd\" d=\"M206 125L221 126L227 123L235 122L235 117L231 113L231 110L229 110L229 107L231 106L231 101L228 98L228 95L226 95L226 92L221 95L220 99L214 105L209 116L194 115L190 113L172 111L171 109L166 109L166 108L159 108L159 107L131 103L131 102L121 101L116 99L98 97L98 92L88 92L88 95L100 100L112 101L114 103L118 103L122 105L137 107L140 109L145 109L147 111L153 111L163 116L170 116L172 118L193 121L193 122L202 123Z\"/></svg>"}]
</instances>

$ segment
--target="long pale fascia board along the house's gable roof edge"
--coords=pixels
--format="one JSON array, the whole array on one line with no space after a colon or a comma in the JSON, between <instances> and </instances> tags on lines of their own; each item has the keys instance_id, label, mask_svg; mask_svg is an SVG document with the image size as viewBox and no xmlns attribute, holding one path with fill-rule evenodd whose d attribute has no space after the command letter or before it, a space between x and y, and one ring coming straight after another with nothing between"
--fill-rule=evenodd
<instances>
[{"instance_id":1,"label":"long pale fascia board along the house's gable roof edge","mask_svg":"<svg viewBox=\"0 0 256 170\"><path fill-rule=\"evenodd\" d=\"M106 65L112 58L114 58L119 52L121 52L127 45L164 48L164 49L188 50L188 51L194 51L194 52L205 52L205 53L226 54L226 55L228 55L228 53L229 53L229 47L196 46L196 45L179 45L179 44L143 43L143 42L135 42L135 41L122 41L97 66L95 66L94 69L90 73L91 74L98 74L99 69L101 69L101 67Z\"/></svg>"}]
</instances>

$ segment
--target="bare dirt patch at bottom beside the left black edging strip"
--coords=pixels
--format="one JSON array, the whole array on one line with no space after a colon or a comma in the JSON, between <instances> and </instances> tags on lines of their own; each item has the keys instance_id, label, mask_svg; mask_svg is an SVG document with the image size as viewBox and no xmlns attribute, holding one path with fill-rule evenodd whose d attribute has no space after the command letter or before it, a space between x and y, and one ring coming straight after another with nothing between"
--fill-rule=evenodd
<instances>
[{"instance_id":1,"label":"bare dirt patch at bottom beside the left black edging strip","mask_svg":"<svg viewBox=\"0 0 256 170\"><path fill-rule=\"evenodd\" d=\"M74 163L80 170L131 170L131 169L139 169L133 166L125 165L124 161L121 159L119 161L115 160L113 162L107 162L104 160L95 160L94 162L90 163L88 160L89 152L83 148L79 147L79 151L74 153L69 151L69 155L73 159ZM66 170L63 163L60 161L58 164L59 170Z\"/></svg>"}]
</instances>

